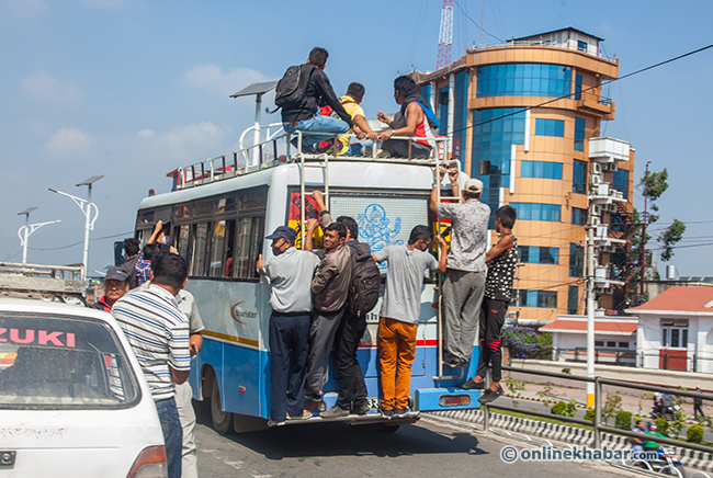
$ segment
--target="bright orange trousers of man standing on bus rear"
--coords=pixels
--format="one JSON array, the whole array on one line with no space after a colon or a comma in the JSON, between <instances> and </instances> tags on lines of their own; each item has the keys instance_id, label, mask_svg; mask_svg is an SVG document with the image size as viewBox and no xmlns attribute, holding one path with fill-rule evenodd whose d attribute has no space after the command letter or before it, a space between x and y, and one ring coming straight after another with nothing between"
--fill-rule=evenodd
<instances>
[{"instance_id":1,"label":"bright orange trousers of man standing on bus rear","mask_svg":"<svg viewBox=\"0 0 713 478\"><path fill-rule=\"evenodd\" d=\"M408 407L417 330L418 323L401 322L386 317L382 317L378 321L378 362L382 367L383 410Z\"/></svg>"}]
</instances>

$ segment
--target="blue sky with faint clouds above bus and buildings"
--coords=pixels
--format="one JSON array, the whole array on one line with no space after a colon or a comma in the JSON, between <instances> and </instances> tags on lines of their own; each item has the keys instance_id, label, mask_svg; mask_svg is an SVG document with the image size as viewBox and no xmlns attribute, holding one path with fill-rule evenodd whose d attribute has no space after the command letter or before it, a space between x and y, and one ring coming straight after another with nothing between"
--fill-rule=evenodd
<instances>
[{"instance_id":1,"label":"blue sky with faint clouds above bus and buildings","mask_svg":"<svg viewBox=\"0 0 713 478\"><path fill-rule=\"evenodd\" d=\"M482 1L455 0L453 58L479 42ZM83 216L70 200L77 182L94 186L101 215L92 238L131 235L149 189L165 174L236 149L253 102L228 95L253 81L279 79L313 46L330 53L326 72L341 92L366 87L363 106L394 111L398 72L435 66L439 0L210 1L0 0L0 260L20 260L16 230L61 219L30 240L30 262L80 262ZM485 1L483 43L566 26L606 38L625 75L713 43L713 2L603 0ZM472 20L468 20L467 16ZM660 203L665 226L688 224L682 244L713 242L711 148L713 49L625 79L604 94L616 102L608 136L636 149L636 178L650 161L668 168ZM271 104L271 101L268 101ZM276 121L278 116L267 118ZM641 196L640 196L641 197ZM641 209L641 198L635 205ZM654 226L654 234L659 226ZM92 240L90 269L112 262L115 239ZM713 275L713 246L681 248L681 275Z\"/></svg>"}]
</instances>

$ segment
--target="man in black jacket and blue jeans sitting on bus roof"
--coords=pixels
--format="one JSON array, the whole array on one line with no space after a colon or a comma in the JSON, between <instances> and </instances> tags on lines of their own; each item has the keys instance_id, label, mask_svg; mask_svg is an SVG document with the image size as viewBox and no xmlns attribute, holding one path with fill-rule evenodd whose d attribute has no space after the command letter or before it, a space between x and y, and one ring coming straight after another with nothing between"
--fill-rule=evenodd
<instances>
[{"instance_id":1,"label":"man in black jacket and blue jeans sitting on bus roof","mask_svg":"<svg viewBox=\"0 0 713 478\"><path fill-rule=\"evenodd\" d=\"M329 54L325 48L315 47L309 52L306 64L301 66L301 75L307 77L304 94L298 104L282 107L282 123L285 133L304 132L302 140L305 151L315 151L319 141L329 139L328 135L310 135L308 133L343 134L353 126L351 116L339 102L329 83L329 78L324 72L328 57ZM325 104L331 106L341 120L320 115L319 106Z\"/></svg>"}]
</instances>

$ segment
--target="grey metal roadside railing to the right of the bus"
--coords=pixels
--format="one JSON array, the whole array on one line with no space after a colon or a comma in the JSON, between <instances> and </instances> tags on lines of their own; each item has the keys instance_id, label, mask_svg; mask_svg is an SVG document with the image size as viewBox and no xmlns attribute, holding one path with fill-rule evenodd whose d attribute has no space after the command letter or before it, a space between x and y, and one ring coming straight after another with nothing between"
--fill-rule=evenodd
<instances>
[{"instance_id":1,"label":"grey metal roadside railing to the right of the bus","mask_svg":"<svg viewBox=\"0 0 713 478\"><path fill-rule=\"evenodd\" d=\"M641 433L635 433L626 430L620 430L615 429L613 426L609 426L607 423L601 422L601 408L602 408L602 398L603 398L603 391L602 387L604 385L610 385L619 388L631 388L631 389L636 389L636 390L645 390L645 391L658 391L661 394L669 394L669 395L675 395L675 396L681 396L681 397L688 397L688 398L699 398L702 400L713 400L713 394L699 394L695 391L684 391L684 390L677 390L672 388L666 388L666 387L655 387L652 385L644 385L644 384L637 384L637 383L631 383L631 382L621 382L621 380L611 380L608 378L601 378L601 377L585 377L580 375L569 375L569 374L561 374L556 372L544 372L544 371L534 371L534 369L524 369L524 368L518 368L518 367L510 367L510 366L502 366L503 371L508 372L517 372L520 374L531 374L531 375L540 375L540 376L545 376L545 377L552 377L552 378L564 378L567 380L574 380L574 382L584 382L584 383L593 383L595 384L595 421L591 422L589 420L582 420L574 417L563 417L563 416L555 416L552 413L546 413L546 412L540 412L535 410L524 410L516 407L508 407L503 405L494 405L494 403L486 403L483 406L483 414L484 414L484 428L486 431L490 429L490 407L497 408L500 410L506 410L506 411L511 411L511 412L517 412L517 413L523 413L523 414L530 414L533 417L540 417L540 418L548 418L548 419L556 419L563 422L569 422L569 423L577 423L580 425L588 425L593 428L593 439L595 443L593 446L595 448L600 448L601 447L601 433L611 433L611 434L618 434L622 436L627 436L627 437L635 437L635 439L641 439L642 434ZM682 448L689 448L689 449L694 449L697 452L705 452L705 453L713 453L713 447L711 446L705 446L705 445L700 445L697 443L689 443L689 442L682 442L678 440L672 440L672 439L663 439L659 436L654 436L654 435L644 435L646 436L647 441L656 442L656 443L663 443L666 445L674 445L674 446L680 446Z\"/></svg>"}]
</instances>

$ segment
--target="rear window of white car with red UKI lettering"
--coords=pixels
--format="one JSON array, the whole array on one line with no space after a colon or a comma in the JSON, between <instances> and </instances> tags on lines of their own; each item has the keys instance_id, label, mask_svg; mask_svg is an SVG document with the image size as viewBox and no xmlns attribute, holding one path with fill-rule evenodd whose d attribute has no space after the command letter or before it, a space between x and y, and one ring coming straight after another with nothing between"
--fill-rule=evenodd
<instances>
[{"instance_id":1,"label":"rear window of white car with red UKI lettering","mask_svg":"<svg viewBox=\"0 0 713 478\"><path fill-rule=\"evenodd\" d=\"M106 323L0 314L0 408L124 408L137 399L136 376Z\"/></svg>"}]
</instances>

